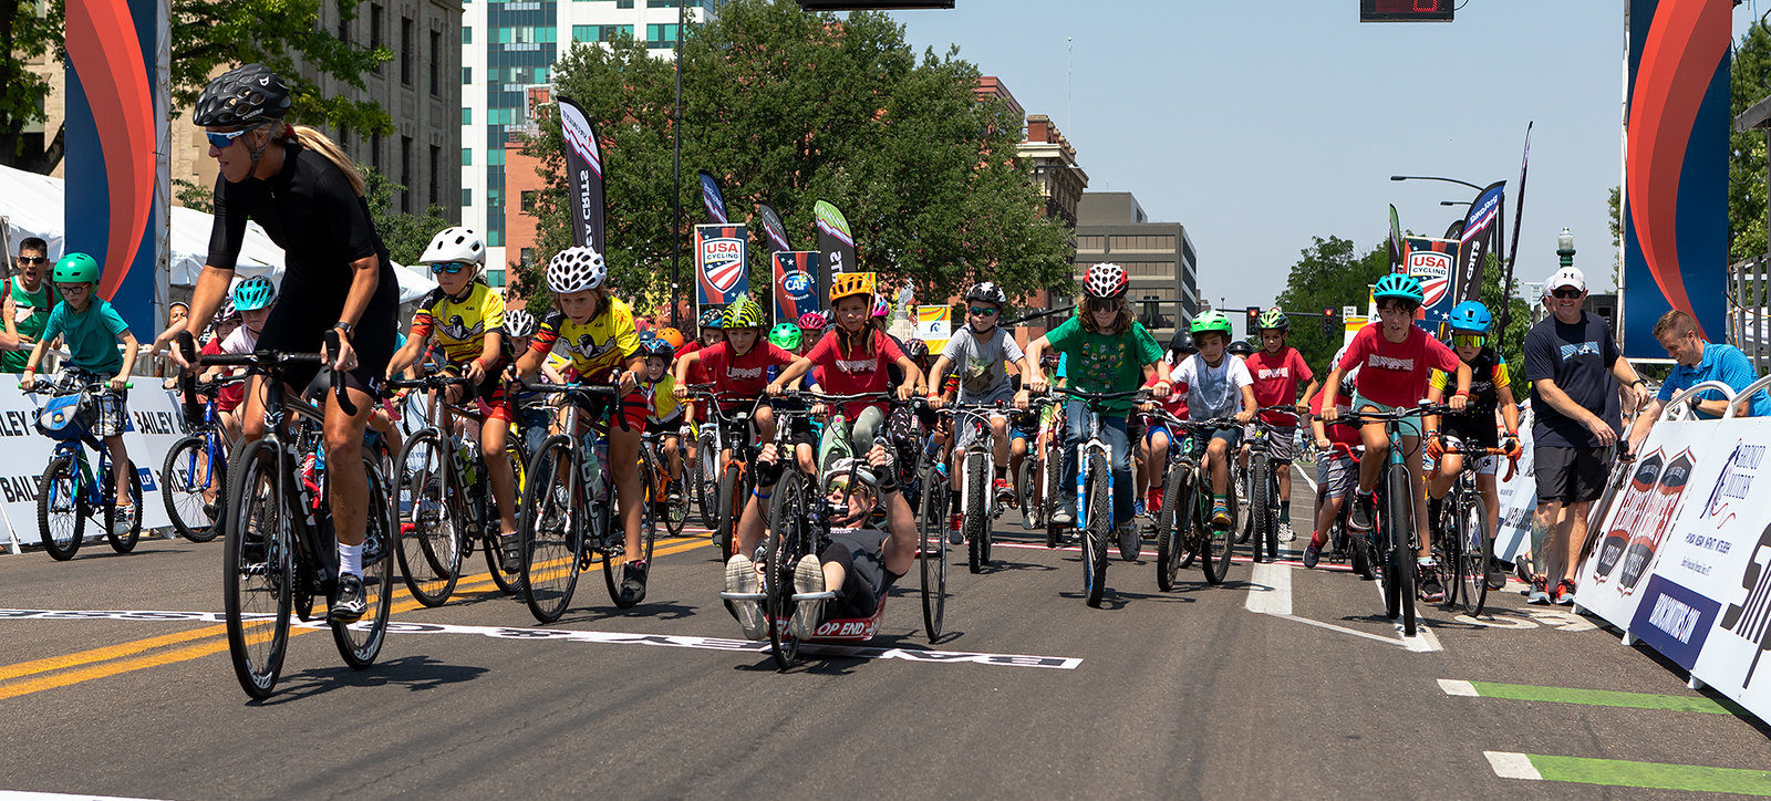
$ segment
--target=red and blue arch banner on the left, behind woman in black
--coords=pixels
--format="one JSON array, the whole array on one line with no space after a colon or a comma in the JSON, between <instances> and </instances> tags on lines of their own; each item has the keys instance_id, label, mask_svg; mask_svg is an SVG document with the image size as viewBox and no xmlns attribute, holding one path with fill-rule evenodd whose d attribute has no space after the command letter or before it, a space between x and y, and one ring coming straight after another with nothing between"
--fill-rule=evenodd
<instances>
[{"instance_id":1,"label":"red and blue arch banner on the left, behind woman in black","mask_svg":"<svg viewBox=\"0 0 1771 801\"><path fill-rule=\"evenodd\" d=\"M136 338L154 315L156 0L67 4L66 250L99 262L99 298Z\"/></svg>"}]
</instances>

